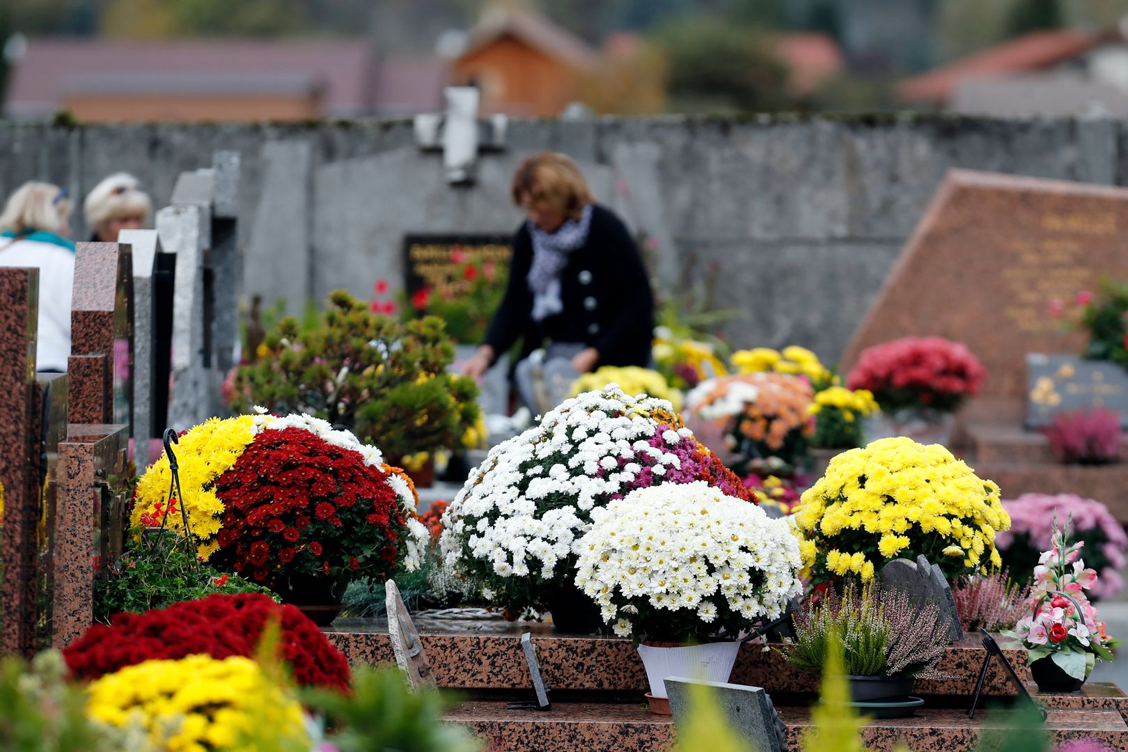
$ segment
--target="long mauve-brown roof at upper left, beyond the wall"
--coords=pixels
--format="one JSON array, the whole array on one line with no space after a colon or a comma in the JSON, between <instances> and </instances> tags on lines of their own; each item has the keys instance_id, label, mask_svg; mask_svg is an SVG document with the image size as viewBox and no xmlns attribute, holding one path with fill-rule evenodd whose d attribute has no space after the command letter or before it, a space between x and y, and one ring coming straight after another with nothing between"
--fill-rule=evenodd
<instances>
[{"instance_id":1,"label":"long mauve-brown roof at upper left, beyond the wall","mask_svg":"<svg viewBox=\"0 0 1128 752\"><path fill-rule=\"evenodd\" d=\"M446 63L434 57L376 62L351 41L30 39L15 65L5 113L50 116L67 95L99 91L273 94L317 91L325 115L408 113L441 106Z\"/></svg>"}]
</instances>

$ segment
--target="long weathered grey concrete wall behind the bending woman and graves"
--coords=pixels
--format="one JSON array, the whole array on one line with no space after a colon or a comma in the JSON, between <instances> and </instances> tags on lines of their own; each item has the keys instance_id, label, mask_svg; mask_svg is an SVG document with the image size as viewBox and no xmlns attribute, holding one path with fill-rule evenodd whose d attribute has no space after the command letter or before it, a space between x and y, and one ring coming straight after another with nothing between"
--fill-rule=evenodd
<instances>
[{"instance_id":1,"label":"long weathered grey concrete wall behind the bending woman and graves","mask_svg":"<svg viewBox=\"0 0 1128 752\"><path fill-rule=\"evenodd\" d=\"M448 186L441 156L421 153L406 122L0 124L0 193L38 178L81 197L125 169L160 206L215 149L243 154L247 292L292 310L402 280L407 232L513 229L512 170L553 149L654 239L662 276L685 267L715 284L716 306L738 311L734 344L800 343L831 361L949 168L1128 184L1128 126L1111 121L662 117L511 123L508 150L482 157L473 187Z\"/></svg>"}]
</instances>

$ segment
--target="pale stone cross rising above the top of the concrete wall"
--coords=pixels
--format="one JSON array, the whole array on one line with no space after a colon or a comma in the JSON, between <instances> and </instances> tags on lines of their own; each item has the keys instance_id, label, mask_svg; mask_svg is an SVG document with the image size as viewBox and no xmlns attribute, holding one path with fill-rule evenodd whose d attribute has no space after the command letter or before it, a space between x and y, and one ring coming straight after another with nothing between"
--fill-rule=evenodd
<instances>
[{"instance_id":1,"label":"pale stone cross rising above the top of the concrete wall","mask_svg":"<svg viewBox=\"0 0 1128 752\"><path fill-rule=\"evenodd\" d=\"M478 121L477 87L447 87L443 96L446 114L415 116L415 141L424 151L442 151L448 183L474 183L478 151L504 148L508 120L504 115L494 115L488 121Z\"/></svg>"}]
</instances>

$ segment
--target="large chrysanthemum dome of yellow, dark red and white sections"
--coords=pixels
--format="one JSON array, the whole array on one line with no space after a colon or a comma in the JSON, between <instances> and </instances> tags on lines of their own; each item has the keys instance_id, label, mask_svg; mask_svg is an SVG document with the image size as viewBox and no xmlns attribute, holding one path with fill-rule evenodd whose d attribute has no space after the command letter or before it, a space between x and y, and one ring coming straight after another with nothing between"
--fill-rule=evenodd
<instances>
[{"instance_id":1,"label":"large chrysanthemum dome of yellow, dark red and white sections","mask_svg":"<svg viewBox=\"0 0 1128 752\"><path fill-rule=\"evenodd\" d=\"M179 440L180 487L200 556L291 600L418 567L428 532L411 480L380 450L308 415L211 418ZM159 515L162 455L138 481L133 525ZM161 515L183 533L180 515Z\"/></svg>"}]
</instances>

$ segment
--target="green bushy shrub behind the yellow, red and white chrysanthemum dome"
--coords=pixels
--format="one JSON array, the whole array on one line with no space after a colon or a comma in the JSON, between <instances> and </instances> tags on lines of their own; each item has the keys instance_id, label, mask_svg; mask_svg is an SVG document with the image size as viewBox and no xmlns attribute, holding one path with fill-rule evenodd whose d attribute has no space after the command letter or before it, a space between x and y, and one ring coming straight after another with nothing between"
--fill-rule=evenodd
<instances>
[{"instance_id":1,"label":"green bushy shrub behind the yellow, red and white chrysanthemum dome","mask_svg":"<svg viewBox=\"0 0 1128 752\"><path fill-rule=\"evenodd\" d=\"M337 291L316 326L284 318L263 346L239 368L237 412L309 414L397 460L459 446L479 425L477 386L449 372L455 348L437 317L400 322Z\"/></svg>"}]
</instances>

